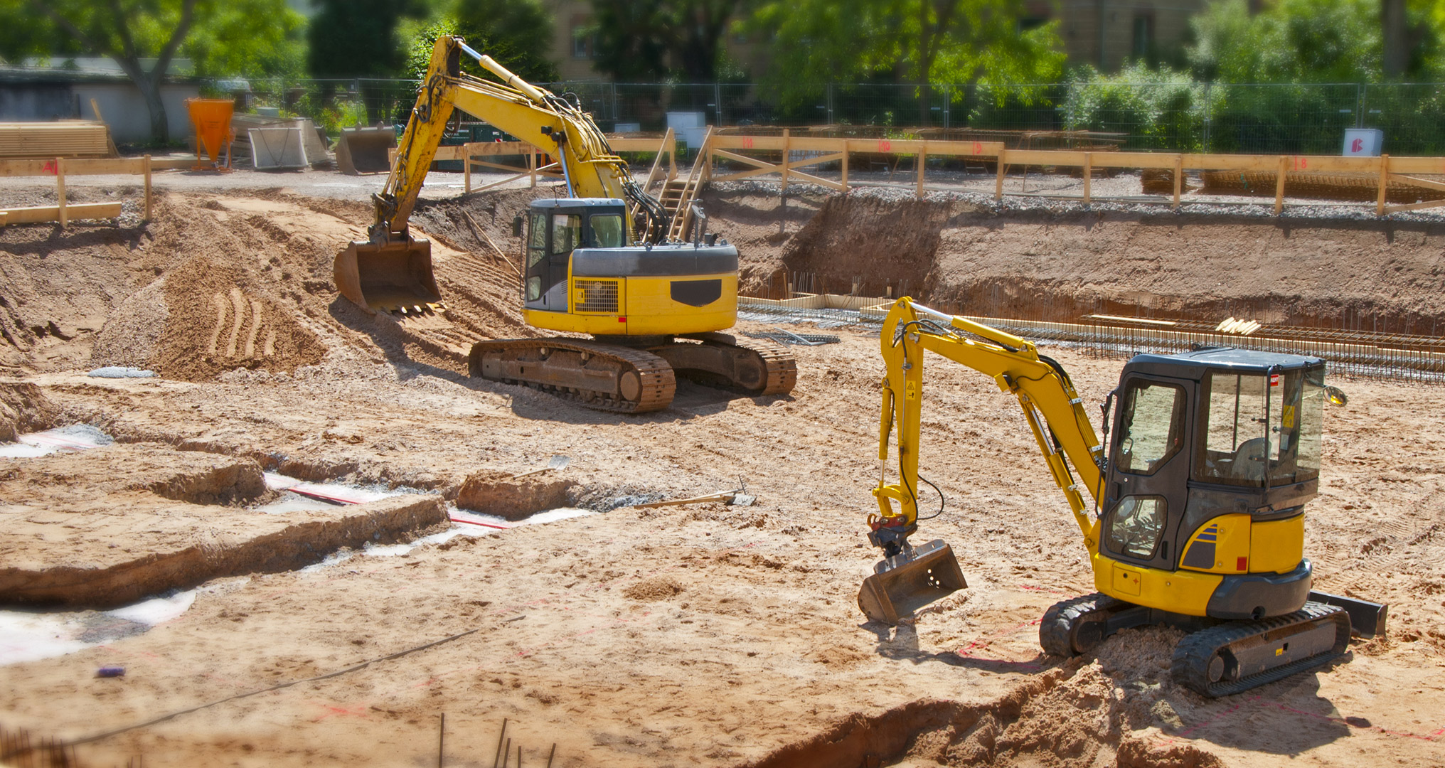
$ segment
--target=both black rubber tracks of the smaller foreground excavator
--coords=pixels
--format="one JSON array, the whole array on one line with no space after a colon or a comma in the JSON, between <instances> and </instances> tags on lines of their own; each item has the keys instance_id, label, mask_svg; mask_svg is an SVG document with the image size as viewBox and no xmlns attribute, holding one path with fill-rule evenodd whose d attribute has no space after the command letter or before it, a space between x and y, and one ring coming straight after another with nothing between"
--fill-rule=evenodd
<instances>
[{"instance_id":1,"label":"both black rubber tracks of the smaller foreground excavator","mask_svg":"<svg viewBox=\"0 0 1445 768\"><path fill-rule=\"evenodd\" d=\"M1341 657L1350 647L1350 613L1306 602L1293 613L1266 619L1220 620L1136 606L1105 594L1056 603L1039 625L1039 644L1052 655L1088 652L1104 638L1133 626L1168 623L1189 632L1175 647L1169 671L1204 696L1228 696L1283 680ZM1374 633L1374 628L1368 628ZM1383 629L1383 628L1381 628Z\"/></svg>"}]
</instances>

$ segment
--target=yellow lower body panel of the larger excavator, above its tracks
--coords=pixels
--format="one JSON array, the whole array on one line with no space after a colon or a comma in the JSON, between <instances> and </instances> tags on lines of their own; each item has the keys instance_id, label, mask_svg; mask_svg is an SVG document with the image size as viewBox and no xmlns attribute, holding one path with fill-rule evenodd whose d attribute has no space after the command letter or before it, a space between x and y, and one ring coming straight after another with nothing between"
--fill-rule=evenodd
<instances>
[{"instance_id":1,"label":"yellow lower body panel of the larger excavator, above its tracks","mask_svg":"<svg viewBox=\"0 0 1445 768\"><path fill-rule=\"evenodd\" d=\"M692 307L672 299L673 281L722 281L722 294L712 304ZM578 282L597 283L605 278L571 278L572 307L579 307L585 289ZM731 328L737 324L737 273L683 275L663 278L626 278L618 289L617 312L551 312L523 310L527 325L551 331L594 336L678 336Z\"/></svg>"}]
</instances>

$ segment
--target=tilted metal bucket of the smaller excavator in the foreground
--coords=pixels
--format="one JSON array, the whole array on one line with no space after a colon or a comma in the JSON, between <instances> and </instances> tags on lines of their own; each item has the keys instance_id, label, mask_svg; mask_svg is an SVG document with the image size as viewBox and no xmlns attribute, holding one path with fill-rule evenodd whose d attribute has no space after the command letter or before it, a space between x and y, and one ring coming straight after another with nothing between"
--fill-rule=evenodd
<instances>
[{"instance_id":1,"label":"tilted metal bucket of the smaller excavator in the foreground","mask_svg":"<svg viewBox=\"0 0 1445 768\"><path fill-rule=\"evenodd\" d=\"M873 567L858 590L858 607L870 619L897 625L899 619L968 586L954 550L933 539Z\"/></svg>"}]
</instances>

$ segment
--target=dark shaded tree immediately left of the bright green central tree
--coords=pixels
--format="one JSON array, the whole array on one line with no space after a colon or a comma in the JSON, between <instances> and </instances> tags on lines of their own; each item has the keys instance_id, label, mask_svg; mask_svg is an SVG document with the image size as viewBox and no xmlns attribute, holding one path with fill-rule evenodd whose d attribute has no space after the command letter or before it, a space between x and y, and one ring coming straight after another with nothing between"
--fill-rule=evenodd
<instances>
[{"instance_id":1,"label":"dark shaded tree immediately left of the bright green central tree","mask_svg":"<svg viewBox=\"0 0 1445 768\"><path fill-rule=\"evenodd\" d=\"M597 68L616 80L715 82L740 0L592 0Z\"/></svg>"}]
</instances>

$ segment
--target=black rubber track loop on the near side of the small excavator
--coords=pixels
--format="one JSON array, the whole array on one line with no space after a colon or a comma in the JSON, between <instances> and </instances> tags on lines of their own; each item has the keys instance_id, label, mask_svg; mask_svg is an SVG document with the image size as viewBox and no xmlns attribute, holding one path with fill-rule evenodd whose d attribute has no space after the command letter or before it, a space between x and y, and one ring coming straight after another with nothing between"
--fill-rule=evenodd
<instances>
[{"instance_id":1,"label":"black rubber track loop on the near side of the small excavator","mask_svg":"<svg viewBox=\"0 0 1445 768\"><path fill-rule=\"evenodd\" d=\"M1250 639L1263 632L1283 629L1290 625L1303 625L1328 616L1337 616L1332 620L1338 628L1335 633L1335 645L1329 652L1292 661L1282 667L1274 667L1273 670L1264 670L1263 673L1241 677L1240 680L1228 683L1209 683L1209 660L1214 658L1214 654L1221 648ZM1283 680L1295 673L1302 673L1312 667L1325 664L1342 655L1348 647L1350 616L1345 610L1342 607L1328 606L1324 603L1305 603L1305 607L1300 610L1286 613L1283 616L1259 620L1227 622L1218 626L1211 626L1209 629L1192 632L1175 647L1173 661L1169 664L1169 671L1175 681L1191 690L1205 696L1230 696L1247 691L1266 683Z\"/></svg>"}]
</instances>

